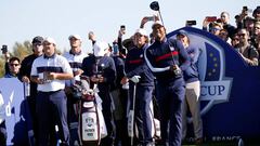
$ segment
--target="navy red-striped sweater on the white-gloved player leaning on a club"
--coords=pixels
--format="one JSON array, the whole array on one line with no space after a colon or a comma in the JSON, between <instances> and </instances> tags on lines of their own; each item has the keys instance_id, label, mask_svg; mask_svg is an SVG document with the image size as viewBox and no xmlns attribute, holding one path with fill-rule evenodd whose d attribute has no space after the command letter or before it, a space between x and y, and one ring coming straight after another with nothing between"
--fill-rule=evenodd
<instances>
[{"instance_id":1,"label":"navy red-striped sweater on the white-gloved player leaning on a club","mask_svg":"<svg viewBox=\"0 0 260 146\"><path fill-rule=\"evenodd\" d=\"M140 76L140 85L154 85L154 76L144 61L144 50L147 47L147 44L144 44L142 49L132 48L126 58L125 69L127 77Z\"/></svg>"}]
</instances>

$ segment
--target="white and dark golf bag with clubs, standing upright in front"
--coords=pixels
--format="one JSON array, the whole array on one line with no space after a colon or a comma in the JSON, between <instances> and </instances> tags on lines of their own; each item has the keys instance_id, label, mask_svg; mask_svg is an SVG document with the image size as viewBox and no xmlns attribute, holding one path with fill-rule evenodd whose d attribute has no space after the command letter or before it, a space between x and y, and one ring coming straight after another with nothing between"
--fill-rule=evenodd
<instances>
[{"instance_id":1,"label":"white and dark golf bag with clubs, standing upright in front","mask_svg":"<svg viewBox=\"0 0 260 146\"><path fill-rule=\"evenodd\" d=\"M77 83L79 102L79 135L81 145L98 146L101 138L107 135L102 114L102 99L98 95L98 88L90 89L89 78L81 76Z\"/></svg>"}]
</instances>

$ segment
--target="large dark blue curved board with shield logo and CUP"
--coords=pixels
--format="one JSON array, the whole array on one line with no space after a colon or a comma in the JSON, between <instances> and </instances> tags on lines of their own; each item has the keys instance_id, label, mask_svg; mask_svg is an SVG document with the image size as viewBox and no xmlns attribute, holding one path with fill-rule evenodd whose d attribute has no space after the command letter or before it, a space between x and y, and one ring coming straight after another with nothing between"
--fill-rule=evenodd
<instances>
[{"instance_id":1,"label":"large dark blue curved board with shield logo and CUP","mask_svg":"<svg viewBox=\"0 0 260 146\"><path fill-rule=\"evenodd\" d=\"M211 141L260 137L260 67L248 66L230 44L202 29L181 28L200 49L204 135ZM180 29L178 29L180 30ZM168 34L176 37L178 30Z\"/></svg>"}]
</instances>

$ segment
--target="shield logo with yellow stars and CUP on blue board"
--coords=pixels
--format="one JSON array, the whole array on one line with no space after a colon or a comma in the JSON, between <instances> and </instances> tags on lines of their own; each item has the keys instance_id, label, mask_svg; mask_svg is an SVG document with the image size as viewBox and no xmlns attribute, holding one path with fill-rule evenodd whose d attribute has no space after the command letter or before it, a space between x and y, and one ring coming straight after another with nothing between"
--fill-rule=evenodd
<instances>
[{"instance_id":1,"label":"shield logo with yellow stars and CUP on blue board","mask_svg":"<svg viewBox=\"0 0 260 146\"><path fill-rule=\"evenodd\" d=\"M220 103L229 102L232 78L225 77L224 43L212 36L191 34L200 50L198 70L200 79L202 115ZM193 41L192 40L192 41ZM216 41L218 40L218 41Z\"/></svg>"}]
</instances>

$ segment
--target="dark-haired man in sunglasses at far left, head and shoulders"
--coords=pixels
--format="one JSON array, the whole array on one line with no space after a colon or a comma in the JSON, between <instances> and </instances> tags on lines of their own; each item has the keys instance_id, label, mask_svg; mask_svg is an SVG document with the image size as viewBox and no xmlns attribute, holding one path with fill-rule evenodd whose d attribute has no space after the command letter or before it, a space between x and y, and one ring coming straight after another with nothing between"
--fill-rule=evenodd
<instances>
[{"instance_id":1,"label":"dark-haired man in sunglasses at far left, head and shoulders","mask_svg":"<svg viewBox=\"0 0 260 146\"><path fill-rule=\"evenodd\" d=\"M17 78L20 68L21 68L20 58L11 57L9 61L10 71L4 75L4 78Z\"/></svg>"}]
</instances>

